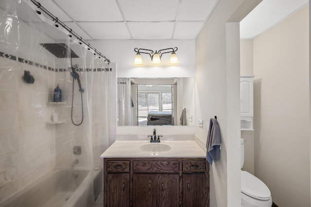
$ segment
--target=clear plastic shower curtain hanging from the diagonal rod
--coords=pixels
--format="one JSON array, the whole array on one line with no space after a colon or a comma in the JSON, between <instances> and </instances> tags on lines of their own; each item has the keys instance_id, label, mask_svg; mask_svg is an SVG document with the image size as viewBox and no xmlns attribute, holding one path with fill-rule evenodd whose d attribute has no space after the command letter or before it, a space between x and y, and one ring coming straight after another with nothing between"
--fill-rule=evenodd
<instances>
[{"instance_id":1,"label":"clear plastic shower curtain hanging from the diagonal rod","mask_svg":"<svg viewBox=\"0 0 311 207\"><path fill-rule=\"evenodd\" d=\"M89 172L86 179L94 190L87 203L92 204L103 190L93 186L94 175L103 168L100 155L114 141L116 130L115 65L107 65L32 4L0 1L0 206L60 170ZM78 57L68 52L58 58L43 43L64 43ZM84 89L82 101L71 66ZM53 102L57 85L62 90L60 103ZM82 123L76 126L71 120ZM81 147L81 155L75 155L75 147ZM75 185L67 187L72 190Z\"/></svg>"}]
</instances>

